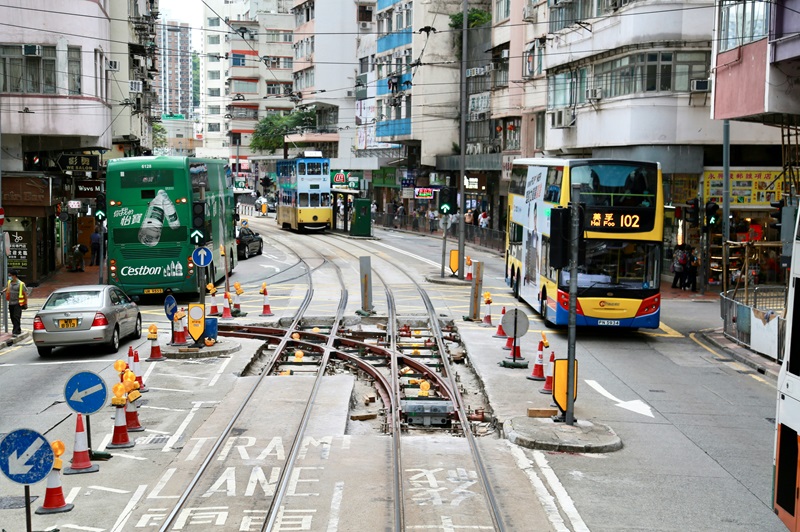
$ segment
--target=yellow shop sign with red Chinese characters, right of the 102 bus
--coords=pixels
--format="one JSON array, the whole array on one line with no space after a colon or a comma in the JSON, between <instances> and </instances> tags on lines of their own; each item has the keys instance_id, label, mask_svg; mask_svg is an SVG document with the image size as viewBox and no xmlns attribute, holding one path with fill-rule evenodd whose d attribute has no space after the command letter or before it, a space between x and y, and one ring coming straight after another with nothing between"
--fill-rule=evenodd
<instances>
[{"instance_id":1,"label":"yellow shop sign with red Chinese characters, right of the 102 bus","mask_svg":"<svg viewBox=\"0 0 800 532\"><path fill-rule=\"evenodd\" d=\"M731 205L761 205L768 207L771 201L783 196L781 170L731 170L728 193ZM722 204L722 170L704 172L703 197L705 201Z\"/></svg>"}]
</instances>

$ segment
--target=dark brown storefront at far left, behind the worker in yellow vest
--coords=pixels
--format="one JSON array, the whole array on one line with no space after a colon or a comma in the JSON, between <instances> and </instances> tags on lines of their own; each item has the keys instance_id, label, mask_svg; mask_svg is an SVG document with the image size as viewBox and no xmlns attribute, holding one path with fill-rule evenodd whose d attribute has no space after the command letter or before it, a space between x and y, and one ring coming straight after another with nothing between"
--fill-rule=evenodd
<instances>
[{"instance_id":1,"label":"dark brown storefront at far left, behind the worker in yellow vest","mask_svg":"<svg viewBox=\"0 0 800 532\"><path fill-rule=\"evenodd\" d=\"M64 179L40 173L3 173L3 208L8 234L8 267L36 284L60 265L57 251L64 242L65 225L56 206L66 201Z\"/></svg>"}]
</instances>

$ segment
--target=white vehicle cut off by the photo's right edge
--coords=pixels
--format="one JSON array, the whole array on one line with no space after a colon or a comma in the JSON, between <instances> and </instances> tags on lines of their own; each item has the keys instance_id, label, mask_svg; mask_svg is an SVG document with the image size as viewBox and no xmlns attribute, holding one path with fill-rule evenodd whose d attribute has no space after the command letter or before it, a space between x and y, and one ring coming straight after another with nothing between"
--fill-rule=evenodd
<instances>
[{"instance_id":1,"label":"white vehicle cut off by the photo's right edge","mask_svg":"<svg viewBox=\"0 0 800 532\"><path fill-rule=\"evenodd\" d=\"M797 314L800 311L800 287L797 286L800 278L800 241L797 226L791 246L783 363L778 373L775 415L773 508L789 530L800 530L800 318Z\"/></svg>"}]
</instances>

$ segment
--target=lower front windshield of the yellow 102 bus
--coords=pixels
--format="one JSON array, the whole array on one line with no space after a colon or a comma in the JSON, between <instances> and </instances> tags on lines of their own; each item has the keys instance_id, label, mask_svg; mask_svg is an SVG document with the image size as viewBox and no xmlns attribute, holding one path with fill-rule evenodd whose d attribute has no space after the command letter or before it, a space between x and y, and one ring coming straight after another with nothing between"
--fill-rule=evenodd
<instances>
[{"instance_id":1,"label":"lower front windshield of the yellow 102 bus","mask_svg":"<svg viewBox=\"0 0 800 532\"><path fill-rule=\"evenodd\" d=\"M578 289L658 288L660 246L625 240L587 240L586 261L578 267ZM561 270L559 284L569 285L569 270Z\"/></svg>"}]
</instances>

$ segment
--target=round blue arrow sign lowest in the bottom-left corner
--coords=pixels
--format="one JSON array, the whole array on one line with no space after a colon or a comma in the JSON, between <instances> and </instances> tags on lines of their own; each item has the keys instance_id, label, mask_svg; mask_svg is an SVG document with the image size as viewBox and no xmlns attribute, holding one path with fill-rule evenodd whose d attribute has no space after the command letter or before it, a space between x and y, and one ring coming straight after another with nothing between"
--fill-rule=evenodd
<instances>
[{"instance_id":1,"label":"round blue arrow sign lowest in the bottom-left corner","mask_svg":"<svg viewBox=\"0 0 800 532\"><path fill-rule=\"evenodd\" d=\"M0 469L17 484L36 484L50 473L54 461L50 444L34 430L17 429L0 442Z\"/></svg>"}]
</instances>

